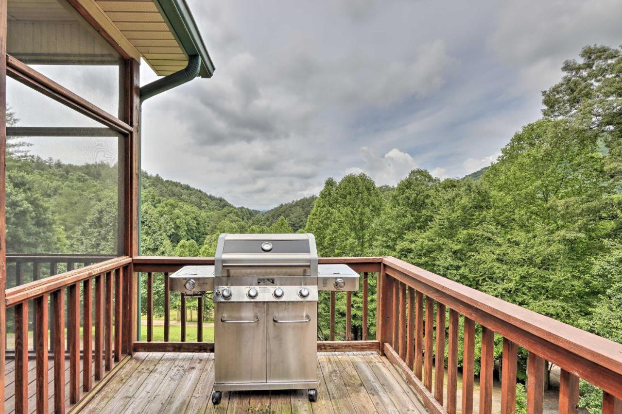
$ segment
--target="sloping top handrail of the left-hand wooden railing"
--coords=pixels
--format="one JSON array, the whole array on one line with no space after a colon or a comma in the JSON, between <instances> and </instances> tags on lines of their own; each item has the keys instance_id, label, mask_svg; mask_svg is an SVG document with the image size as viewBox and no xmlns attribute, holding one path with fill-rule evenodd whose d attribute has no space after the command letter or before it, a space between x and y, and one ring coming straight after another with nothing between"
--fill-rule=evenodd
<instances>
[{"instance_id":1,"label":"sloping top handrail of the left-hand wooden railing","mask_svg":"<svg viewBox=\"0 0 622 414\"><path fill-rule=\"evenodd\" d=\"M40 297L45 293L51 293L60 288L74 285L77 282L88 279L98 274L110 272L121 266L130 264L132 258L129 256L119 256L104 262L81 267L80 269L70 270L58 275L34 280L6 290L7 308L17 305L24 301Z\"/></svg>"}]
</instances>

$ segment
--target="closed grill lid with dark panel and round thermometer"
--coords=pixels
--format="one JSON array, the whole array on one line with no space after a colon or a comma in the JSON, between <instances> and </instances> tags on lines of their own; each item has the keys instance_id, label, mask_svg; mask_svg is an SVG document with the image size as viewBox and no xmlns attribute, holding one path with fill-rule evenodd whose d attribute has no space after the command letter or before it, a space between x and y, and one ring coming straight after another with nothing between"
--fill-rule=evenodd
<instances>
[{"instance_id":1,"label":"closed grill lid with dark panel and round thermometer","mask_svg":"<svg viewBox=\"0 0 622 414\"><path fill-rule=\"evenodd\" d=\"M218 237L215 276L317 276L313 234L227 234Z\"/></svg>"}]
</instances>

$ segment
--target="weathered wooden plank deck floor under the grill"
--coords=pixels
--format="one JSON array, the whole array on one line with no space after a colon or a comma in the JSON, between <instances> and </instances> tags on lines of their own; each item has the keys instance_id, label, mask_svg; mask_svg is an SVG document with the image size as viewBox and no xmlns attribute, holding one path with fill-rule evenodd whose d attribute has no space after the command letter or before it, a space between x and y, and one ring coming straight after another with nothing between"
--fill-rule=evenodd
<instances>
[{"instance_id":1,"label":"weathered wooden plank deck floor under the grill","mask_svg":"<svg viewBox=\"0 0 622 414\"><path fill-rule=\"evenodd\" d=\"M83 413L426 413L397 370L376 352L318 354L318 400L307 390L223 392L211 403L214 356L134 354L81 405Z\"/></svg>"}]
</instances>

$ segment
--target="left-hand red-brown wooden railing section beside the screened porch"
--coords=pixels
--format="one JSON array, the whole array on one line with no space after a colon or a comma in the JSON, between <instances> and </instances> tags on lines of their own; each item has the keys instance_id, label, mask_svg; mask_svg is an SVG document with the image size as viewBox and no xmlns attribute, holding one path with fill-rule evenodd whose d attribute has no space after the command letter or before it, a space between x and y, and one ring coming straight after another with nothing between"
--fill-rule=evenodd
<instances>
[{"instance_id":1,"label":"left-hand red-brown wooden railing section beside the screened porch","mask_svg":"<svg viewBox=\"0 0 622 414\"><path fill-rule=\"evenodd\" d=\"M7 412L28 413L32 411L29 405L34 405L37 413L65 412L67 405L80 400L81 392L91 390L93 380L103 379L106 372L113 369L113 360L118 362L127 353L129 324L124 323L124 318L129 316L130 310L126 307L128 301L124 300L128 292L124 275L130 274L131 261L131 257L116 257L6 290L6 307L14 308L15 318L14 395L5 402ZM65 290L68 307L66 334ZM29 377L29 306L34 306L35 315L32 378ZM50 349L53 349L53 374L51 370L49 372ZM66 349L69 359L68 399L65 394ZM34 387L29 386L32 383Z\"/></svg>"}]
</instances>

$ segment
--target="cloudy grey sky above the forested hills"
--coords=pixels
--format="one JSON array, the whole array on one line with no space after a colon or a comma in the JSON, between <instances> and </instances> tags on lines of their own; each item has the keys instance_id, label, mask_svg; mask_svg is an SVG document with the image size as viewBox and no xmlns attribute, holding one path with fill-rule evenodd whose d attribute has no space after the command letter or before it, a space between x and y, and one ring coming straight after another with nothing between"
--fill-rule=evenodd
<instances>
[{"instance_id":1,"label":"cloudy grey sky above the forested hills","mask_svg":"<svg viewBox=\"0 0 622 414\"><path fill-rule=\"evenodd\" d=\"M216 71L143 104L142 168L256 209L490 165L565 59L622 44L619 0L187 2Z\"/></svg>"}]
</instances>

